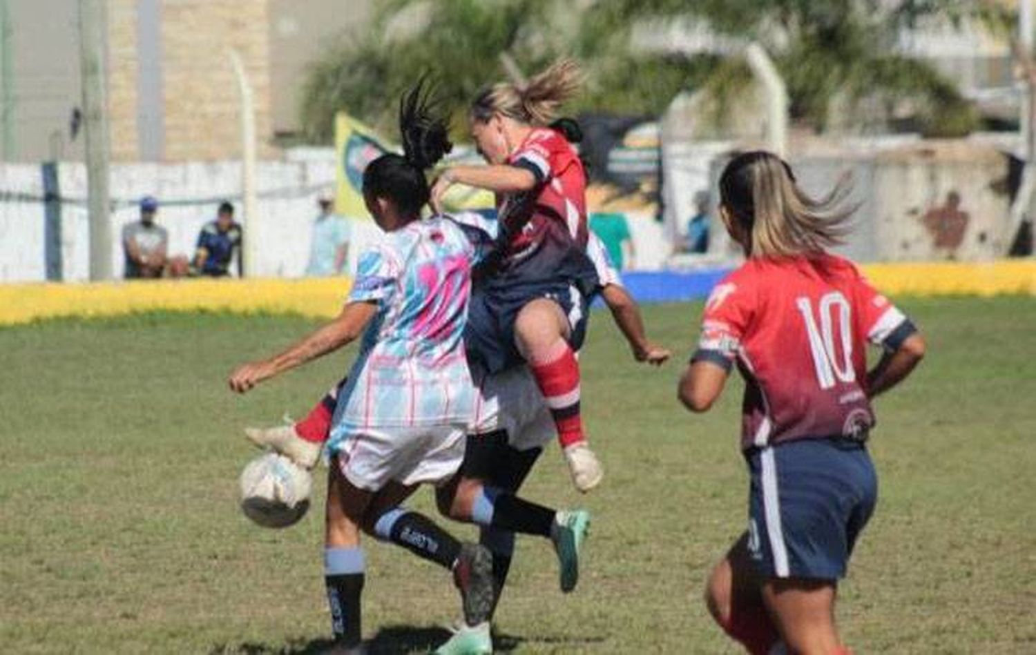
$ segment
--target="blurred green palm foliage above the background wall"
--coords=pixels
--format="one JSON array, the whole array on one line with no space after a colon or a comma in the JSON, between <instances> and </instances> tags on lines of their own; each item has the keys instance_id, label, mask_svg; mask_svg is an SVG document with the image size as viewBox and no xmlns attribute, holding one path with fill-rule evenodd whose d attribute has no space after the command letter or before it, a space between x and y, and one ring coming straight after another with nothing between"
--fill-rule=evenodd
<instances>
[{"instance_id":1,"label":"blurred green palm foliage above the background wall","mask_svg":"<svg viewBox=\"0 0 1036 655\"><path fill-rule=\"evenodd\" d=\"M739 84L717 77L743 76L745 67L720 65L719 55L631 52L634 26L680 20L762 43L785 79L796 121L825 129L838 98L839 111L880 107L887 119L905 114L926 133L955 136L976 126L974 109L894 46L900 28L928 17L976 12L990 24L1011 18L1000 5L967 0L383 0L364 35L312 65L303 124L311 140L329 141L334 114L345 109L391 128L394 98L428 71L462 110L483 85L505 79L501 53L526 72L562 55L579 58L586 92L573 111L658 115L683 90L736 92Z\"/></svg>"}]
</instances>

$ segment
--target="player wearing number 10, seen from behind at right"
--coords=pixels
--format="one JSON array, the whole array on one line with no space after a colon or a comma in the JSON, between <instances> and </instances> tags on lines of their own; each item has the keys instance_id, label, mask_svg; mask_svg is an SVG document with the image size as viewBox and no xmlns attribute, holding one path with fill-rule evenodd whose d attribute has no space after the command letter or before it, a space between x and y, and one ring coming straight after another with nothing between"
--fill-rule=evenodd
<instances>
[{"instance_id":1,"label":"player wearing number 10, seen from behind at right","mask_svg":"<svg viewBox=\"0 0 1036 655\"><path fill-rule=\"evenodd\" d=\"M748 531L713 570L706 600L750 653L781 639L794 653L848 653L834 602L876 500L870 399L914 369L924 340L852 263L826 251L846 230L846 186L815 201L769 152L735 157L719 186L720 215L748 261L706 303L679 394L707 411L738 364L751 485ZM885 349L870 371L868 341Z\"/></svg>"}]
</instances>

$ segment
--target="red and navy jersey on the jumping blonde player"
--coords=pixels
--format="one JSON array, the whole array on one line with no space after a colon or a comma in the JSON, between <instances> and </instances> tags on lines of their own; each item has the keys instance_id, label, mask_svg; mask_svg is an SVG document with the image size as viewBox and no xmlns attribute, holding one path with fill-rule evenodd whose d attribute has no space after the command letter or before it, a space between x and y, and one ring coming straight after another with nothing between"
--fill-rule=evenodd
<instances>
[{"instance_id":1,"label":"red and navy jersey on the jumping blonde player","mask_svg":"<svg viewBox=\"0 0 1036 655\"><path fill-rule=\"evenodd\" d=\"M559 131L538 127L508 163L530 172L537 183L530 191L497 196L501 242L493 277L507 285L592 277L586 175L578 153Z\"/></svg>"}]
</instances>

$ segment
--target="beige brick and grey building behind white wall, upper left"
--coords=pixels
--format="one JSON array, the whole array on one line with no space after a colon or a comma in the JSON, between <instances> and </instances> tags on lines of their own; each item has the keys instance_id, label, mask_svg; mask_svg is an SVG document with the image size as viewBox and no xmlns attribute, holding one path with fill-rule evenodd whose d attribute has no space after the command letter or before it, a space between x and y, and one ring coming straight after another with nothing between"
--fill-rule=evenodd
<instances>
[{"instance_id":1,"label":"beige brick and grey building behind white wall, upper left","mask_svg":"<svg viewBox=\"0 0 1036 655\"><path fill-rule=\"evenodd\" d=\"M372 0L108 0L114 161L239 156L240 55L259 156L298 131L306 65L367 24ZM81 160L78 2L0 0L0 160Z\"/></svg>"}]
</instances>

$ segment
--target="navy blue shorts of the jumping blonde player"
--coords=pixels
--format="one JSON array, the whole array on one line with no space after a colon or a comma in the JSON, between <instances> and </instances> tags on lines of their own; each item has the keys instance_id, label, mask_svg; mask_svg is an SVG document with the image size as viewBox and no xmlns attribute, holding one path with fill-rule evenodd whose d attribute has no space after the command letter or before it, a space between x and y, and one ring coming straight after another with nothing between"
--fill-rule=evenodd
<instances>
[{"instance_id":1,"label":"navy blue shorts of the jumping blonde player","mask_svg":"<svg viewBox=\"0 0 1036 655\"><path fill-rule=\"evenodd\" d=\"M471 294L464 329L464 347L469 361L489 374L497 374L525 363L515 343L515 320L528 302L549 298L569 319L569 346L578 351L586 337L588 303L575 285L568 281L477 289Z\"/></svg>"}]
</instances>

